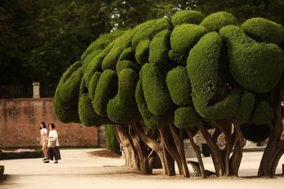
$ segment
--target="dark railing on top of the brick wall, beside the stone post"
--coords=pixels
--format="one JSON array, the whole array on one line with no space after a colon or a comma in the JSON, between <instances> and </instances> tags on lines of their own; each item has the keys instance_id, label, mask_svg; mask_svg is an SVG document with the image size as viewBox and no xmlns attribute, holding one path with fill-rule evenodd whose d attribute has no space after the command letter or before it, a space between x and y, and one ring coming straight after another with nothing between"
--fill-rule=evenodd
<instances>
[{"instance_id":1,"label":"dark railing on top of the brick wall, beside the stone post","mask_svg":"<svg viewBox=\"0 0 284 189\"><path fill-rule=\"evenodd\" d=\"M56 85L40 85L40 98L54 98ZM33 98L33 85L0 85L0 99Z\"/></svg>"}]
</instances>

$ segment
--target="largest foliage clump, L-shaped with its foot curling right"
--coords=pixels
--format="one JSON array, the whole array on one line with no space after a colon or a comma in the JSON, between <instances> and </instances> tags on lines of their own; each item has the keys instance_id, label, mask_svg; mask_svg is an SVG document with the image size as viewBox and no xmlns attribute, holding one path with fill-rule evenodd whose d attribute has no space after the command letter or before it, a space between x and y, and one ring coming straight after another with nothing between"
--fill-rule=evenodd
<instances>
[{"instance_id":1,"label":"largest foliage clump, L-shaped with its foot curling right","mask_svg":"<svg viewBox=\"0 0 284 189\"><path fill-rule=\"evenodd\" d=\"M202 117L213 120L235 115L240 99L238 90L224 96L217 93L222 89L217 86L221 47L222 39L216 32L206 34L191 49L187 60L194 108Z\"/></svg>"}]
</instances>

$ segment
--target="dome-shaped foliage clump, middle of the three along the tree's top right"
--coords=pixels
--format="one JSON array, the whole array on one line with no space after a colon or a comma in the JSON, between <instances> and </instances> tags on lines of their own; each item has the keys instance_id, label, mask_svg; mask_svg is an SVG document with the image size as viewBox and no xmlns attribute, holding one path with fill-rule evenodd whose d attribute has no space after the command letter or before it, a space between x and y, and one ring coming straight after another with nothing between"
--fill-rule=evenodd
<instances>
[{"instance_id":1,"label":"dome-shaped foliage clump, middle of the three along the tree's top right","mask_svg":"<svg viewBox=\"0 0 284 189\"><path fill-rule=\"evenodd\" d=\"M210 32L217 32L226 25L237 25L237 19L228 12L215 12L206 16L200 25L206 27Z\"/></svg>"}]
</instances>

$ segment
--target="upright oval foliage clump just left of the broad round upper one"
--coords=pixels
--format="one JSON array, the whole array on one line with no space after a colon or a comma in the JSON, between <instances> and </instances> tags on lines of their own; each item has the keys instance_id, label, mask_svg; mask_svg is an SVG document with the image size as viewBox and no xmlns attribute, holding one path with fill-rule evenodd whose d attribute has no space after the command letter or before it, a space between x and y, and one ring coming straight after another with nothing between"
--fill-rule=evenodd
<instances>
[{"instance_id":1,"label":"upright oval foliage clump just left of the broad round upper one","mask_svg":"<svg viewBox=\"0 0 284 189\"><path fill-rule=\"evenodd\" d=\"M149 63L157 67L166 67L169 64L169 30L156 34L149 47Z\"/></svg>"}]
</instances>

